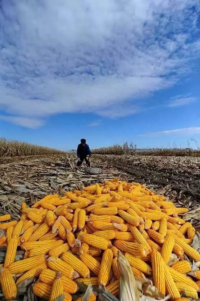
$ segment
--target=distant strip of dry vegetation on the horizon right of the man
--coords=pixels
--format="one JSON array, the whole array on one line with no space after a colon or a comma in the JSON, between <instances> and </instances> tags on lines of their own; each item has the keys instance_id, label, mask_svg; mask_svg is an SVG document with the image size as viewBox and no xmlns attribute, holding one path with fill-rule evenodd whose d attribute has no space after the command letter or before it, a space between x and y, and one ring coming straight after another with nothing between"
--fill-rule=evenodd
<instances>
[{"instance_id":1,"label":"distant strip of dry vegetation on the horizon right of the man","mask_svg":"<svg viewBox=\"0 0 200 301\"><path fill-rule=\"evenodd\" d=\"M108 147L100 147L92 150L97 155L139 155L139 156L193 156L200 157L200 149L187 148L144 148L139 149L133 143L125 142L123 145L115 144Z\"/></svg>"}]
</instances>

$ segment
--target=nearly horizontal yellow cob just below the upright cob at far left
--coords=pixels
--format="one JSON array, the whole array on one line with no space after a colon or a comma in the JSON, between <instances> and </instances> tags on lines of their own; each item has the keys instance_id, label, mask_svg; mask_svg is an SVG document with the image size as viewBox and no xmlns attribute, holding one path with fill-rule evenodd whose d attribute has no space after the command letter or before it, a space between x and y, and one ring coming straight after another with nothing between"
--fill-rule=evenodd
<instances>
[{"instance_id":1,"label":"nearly horizontal yellow cob just below the upright cob at far left","mask_svg":"<svg viewBox=\"0 0 200 301\"><path fill-rule=\"evenodd\" d=\"M12 274L20 274L30 270L31 268L35 268L36 265L38 266L44 261L44 255L37 255L11 263L9 270Z\"/></svg>"}]
</instances>

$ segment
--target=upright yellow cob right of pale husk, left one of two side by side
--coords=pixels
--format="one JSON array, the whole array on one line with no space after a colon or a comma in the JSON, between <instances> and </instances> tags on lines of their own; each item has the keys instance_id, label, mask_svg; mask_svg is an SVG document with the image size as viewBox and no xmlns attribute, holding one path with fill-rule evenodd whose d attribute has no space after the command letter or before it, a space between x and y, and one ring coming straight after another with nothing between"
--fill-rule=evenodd
<instances>
[{"instance_id":1,"label":"upright yellow cob right of pale husk, left one of two side by side","mask_svg":"<svg viewBox=\"0 0 200 301\"><path fill-rule=\"evenodd\" d=\"M158 290L165 295L165 273L163 260L156 250L151 253L152 270L153 270L153 283Z\"/></svg>"}]
</instances>

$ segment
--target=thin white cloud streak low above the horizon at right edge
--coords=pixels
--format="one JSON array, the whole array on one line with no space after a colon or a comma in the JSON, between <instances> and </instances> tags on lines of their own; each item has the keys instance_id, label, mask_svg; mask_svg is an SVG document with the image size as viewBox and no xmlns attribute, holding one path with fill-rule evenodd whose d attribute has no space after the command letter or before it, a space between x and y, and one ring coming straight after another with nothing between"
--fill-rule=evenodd
<instances>
[{"instance_id":1,"label":"thin white cloud streak low above the horizon at right edge","mask_svg":"<svg viewBox=\"0 0 200 301\"><path fill-rule=\"evenodd\" d=\"M142 134L139 136L145 137L155 137L155 136L164 136L164 135L179 135L179 136L188 136L188 135L197 135L200 134L200 127L190 127L184 129L177 129L177 130L165 130L153 133Z\"/></svg>"}]
</instances>

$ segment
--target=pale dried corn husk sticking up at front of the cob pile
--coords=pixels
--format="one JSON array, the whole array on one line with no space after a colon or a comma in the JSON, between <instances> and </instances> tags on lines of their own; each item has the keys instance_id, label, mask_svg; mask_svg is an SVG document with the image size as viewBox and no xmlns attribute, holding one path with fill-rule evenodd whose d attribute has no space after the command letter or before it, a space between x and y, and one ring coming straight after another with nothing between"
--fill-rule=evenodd
<instances>
[{"instance_id":1,"label":"pale dried corn husk sticking up at front of the cob pile","mask_svg":"<svg viewBox=\"0 0 200 301\"><path fill-rule=\"evenodd\" d=\"M118 268L120 272L120 300L139 301L139 293L130 264L125 256L118 252Z\"/></svg>"}]
</instances>

